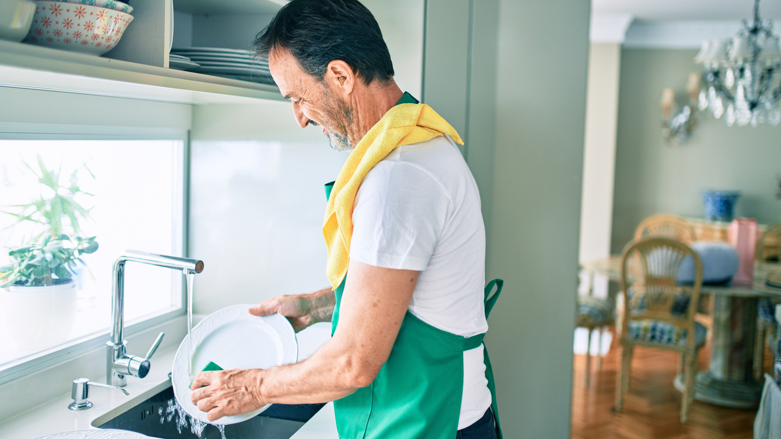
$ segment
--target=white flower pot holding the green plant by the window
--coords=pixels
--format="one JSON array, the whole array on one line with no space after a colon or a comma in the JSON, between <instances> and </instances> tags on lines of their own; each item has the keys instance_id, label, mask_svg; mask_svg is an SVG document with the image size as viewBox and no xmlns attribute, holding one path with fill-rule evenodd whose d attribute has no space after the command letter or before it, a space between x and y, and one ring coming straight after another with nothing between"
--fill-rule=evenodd
<instances>
[{"instance_id":1,"label":"white flower pot holding the green plant by the window","mask_svg":"<svg viewBox=\"0 0 781 439\"><path fill-rule=\"evenodd\" d=\"M5 330L17 347L40 351L68 341L76 321L77 291L73 282L0 289Z\"/></svg>"}]
</instances>

